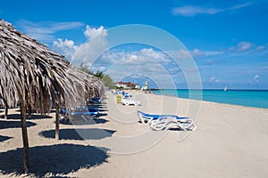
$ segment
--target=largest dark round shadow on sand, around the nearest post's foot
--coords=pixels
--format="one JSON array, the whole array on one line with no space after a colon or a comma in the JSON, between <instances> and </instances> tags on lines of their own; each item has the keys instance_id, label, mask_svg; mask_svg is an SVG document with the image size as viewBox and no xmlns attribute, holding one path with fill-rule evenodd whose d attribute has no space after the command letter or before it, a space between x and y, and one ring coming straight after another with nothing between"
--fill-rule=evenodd
<instances>
[{"instance_id":1,"label":"largest dark round shadow on sand, around the nearest post's foot","mask_svg":"<svg viewBox=\"0 0 268 178\"><path fill-rule=\"evenodd\" d=\"M63 177L80 168L98 166L107 162L107 149L77 144L56 144L29 148L29 175L35 177ZM20 175L22 148L0 153L3 160L0 173Z\"/></svg>"}]
</instances>

